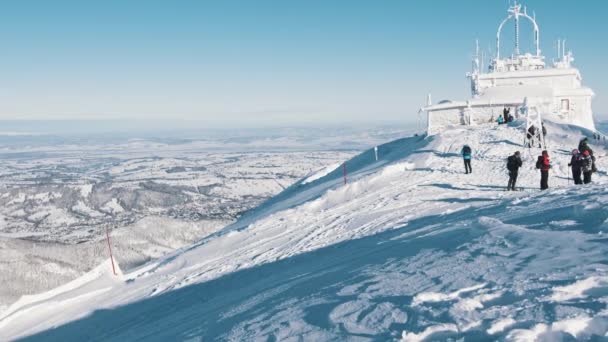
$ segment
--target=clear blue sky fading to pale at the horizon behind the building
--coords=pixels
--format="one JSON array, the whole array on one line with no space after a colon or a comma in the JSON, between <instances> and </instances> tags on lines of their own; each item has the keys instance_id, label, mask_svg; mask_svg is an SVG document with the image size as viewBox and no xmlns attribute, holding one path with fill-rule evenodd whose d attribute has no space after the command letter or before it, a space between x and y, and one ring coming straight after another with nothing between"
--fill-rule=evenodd
<instances>
[{"instance_id":1,"label":"clear blue sky fading to pale at the horizon behind the building","mask_svg":"<svg viewBox=\"0 0 608 342\"><path fill-rule=\"evenodd\" d=\"M528 0L608 114L608 1ZM468 97L474 40L507 0L13 0L0 6L0 119L217 125L414 121ZM506 29L510 36L511 30ZM527 34L524 32L523 34ZM531 33L530 33L531 36Z\"/></svg>"}]
</instances>

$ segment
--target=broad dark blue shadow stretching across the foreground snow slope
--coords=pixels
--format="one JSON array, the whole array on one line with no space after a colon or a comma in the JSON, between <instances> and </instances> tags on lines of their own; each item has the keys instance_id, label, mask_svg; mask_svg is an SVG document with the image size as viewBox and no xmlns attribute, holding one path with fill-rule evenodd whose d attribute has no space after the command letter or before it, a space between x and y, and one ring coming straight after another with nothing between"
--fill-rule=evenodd
<instances>
[{"instance_id":1,"label":"broad dark blue shadow stretching across the foreground snow slope","mask_svg":"<svg viewBox=\"0 0 608 342\"><path fill-rule=\"evenodd\" d=\"M570 203L578 203L585 197L586 193L573 192L567 199L556 197L555 202L563 203L567 200ZM463 245L487 234L487 228L472 221L477 217L502 217L501 220L507 224L521 224L528 228L543 230L555 230L556 227L550 223L552 221L559 223L574 218L577 220L576 223L571 222L561 227L558 224L557 229L594 233L605 228L604 220L608 217L608 213L604 212L601 206L581 208L565 204L557 207L538 206L537 212L521 216L522 211L526 212L531 202L517 204L520 211L517 214L514 213L512 202L502 200L483 208L469 208L450 214L412 220L390 231L243 269L218 279L193 284L122 307L98 310L88 317L24 340L226 339L227 334L236 326L241 324L244 326L243 329L248 329L252 326L248 322L253 320L257 321L256 324L259 323L259 329L265 329L264 336L272 341L281 336L275 335L276 331L273 329L277 329L276 326L266 322L275 318L281 320L281 325L288 327L290 317L282 316L286 306L301 308L303 313L300 317L306 324L314 327L313 331L328 334L331 336L329 339L352 337L393 339L403 330L420 332L428 326L429 322L451 323L449 316L436 317L432 313L418 311L411 305L413 295L436 285L433 280L416 285L418 290L412 291L410 295L370 298L372 305L374 301L378 302L376 304L389 302L407 314L406 323L392 323L388 329L373 335L348 331L342 323L331 320L330 314L336 307L356 300L358 298L356 293L360 292L341 294L340 291L349 286L365 288L373 285L378 282L378 274L382 274L383 277L388 276L390 279L402 279L401 281L415 277L418 272L424 272L424 269L413 271L414 273L405 270L404 265L409 258L424 255L425 251L434 251L431 255L435 255L434 257L427 255L426 258L449 258L450 254L455 255L454 253ZM511 209L506 210L507 207ZM543 218L544 224L530 225L537 222L538 217ZM432 234L429 234L429 230L422 229L430 226L433 226ZM600 241L602 245L603 240ZM474 252L471 257L476 257ZM558 264L558 266L562 265ZM521 267L523 268L517 272L523 272L525 263ZM550 272L550 270L545 271ZM492 276L492 272L502 271L496 269L489 272ZM467 281L491 282L491 280L476 278L469 278ZM402 286L406 285L409 284L404 283ZM454 291L463 285L467 284L455 284L453 280L443 282L441 291ZM257 300L254 300L256 298ZM550 309L558 304L543 305ZM232 313L228 314L229 312ZM484 323L487 324L489 322ZM459 334L448 333L448 335L466 337L467 340L500 339L500 336L487 335L484 329ZM307 332L311 332L311 329L294 334L301 336ZM259 334L259 331L257 333ZM441 334L443 336L445 333ZM246 333L245 336L251 337ZM242 335L240 337L243 338Z\"/></svg>"}]
</instances>

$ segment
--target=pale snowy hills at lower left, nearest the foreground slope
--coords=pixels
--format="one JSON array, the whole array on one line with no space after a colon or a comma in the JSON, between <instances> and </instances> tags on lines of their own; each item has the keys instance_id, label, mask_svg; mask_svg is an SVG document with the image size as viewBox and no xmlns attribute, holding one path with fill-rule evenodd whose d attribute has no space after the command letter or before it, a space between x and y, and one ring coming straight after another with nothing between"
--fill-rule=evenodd
<instances>
[{"instance_id":1,"label":"pale snowy hills at lower left, nearest the foreground slope","mask_svg":"<svg viewBox=\"0 0 608 342\"><path fill-rule=\"evenodd\" d=\"M114 256L125 270L159 258L225 227L230 221L187 222L146 217L112 231ZM0 311L22 295L48 291L108 258L105 238L79 244L37 242L0 235Z\"/></svg>"}]
</instances>

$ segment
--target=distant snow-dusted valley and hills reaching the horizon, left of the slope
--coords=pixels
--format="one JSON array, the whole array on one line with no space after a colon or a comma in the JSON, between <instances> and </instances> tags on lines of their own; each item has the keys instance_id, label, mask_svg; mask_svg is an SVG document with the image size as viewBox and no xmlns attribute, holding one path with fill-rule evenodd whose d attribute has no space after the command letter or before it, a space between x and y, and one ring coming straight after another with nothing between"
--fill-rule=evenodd
<instances>
[{"instance_id":1,"label":"distant snow-dusted valley and hills reaching the horizon, left of the slope","mask_svg":"<svg viewBox=\"0 0 608 342\"><path fill-rule=\"evenodd\" d=\"M87 145L63 147L30 154L0 146L0 311L105 260L106 228L130 271L235 222L312 170L355 154L219 153L150 142L97 145L95 153Z\"/></svg>"}]
</instances>

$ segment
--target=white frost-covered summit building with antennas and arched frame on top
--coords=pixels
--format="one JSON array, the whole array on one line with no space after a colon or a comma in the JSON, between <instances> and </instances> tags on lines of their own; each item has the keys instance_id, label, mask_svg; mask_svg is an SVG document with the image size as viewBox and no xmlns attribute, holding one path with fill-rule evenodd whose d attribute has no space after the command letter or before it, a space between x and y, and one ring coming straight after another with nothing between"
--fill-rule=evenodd
<instances>
[{"instance_id":1,"label":"white frost-covered summit building with antennas and arched frame on top","mask_svg":"<svg viewBox=\"0 0 608 342\"><path fill-rule=\"evenodd\" d=\"M535 51L520 50L520 22L529 21L533 27ZM515 23L515 47L510 56L501 56L500 42L503 27ZM496 55L487 70L479 45L473 58L473 70L467 75L471 81L472 98L467 101L441 101L427 104L421 113L427 114L427 133L435 134L449 126L477 125L493 122L502 115L504 107L515 117L541 115L553 121L578 125L595 131L591 100L593 91L583 86L581 73L576 69L566 42L558 41L557 59L547 65L540 49L540 30L535 15L514 3L508 16L498 26ZM530 125L531 118L528 117ZM538 126L537 126L538 127Z\"/></svg>"}]
</instances>

